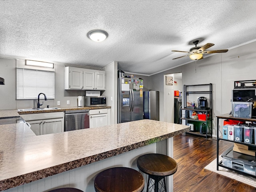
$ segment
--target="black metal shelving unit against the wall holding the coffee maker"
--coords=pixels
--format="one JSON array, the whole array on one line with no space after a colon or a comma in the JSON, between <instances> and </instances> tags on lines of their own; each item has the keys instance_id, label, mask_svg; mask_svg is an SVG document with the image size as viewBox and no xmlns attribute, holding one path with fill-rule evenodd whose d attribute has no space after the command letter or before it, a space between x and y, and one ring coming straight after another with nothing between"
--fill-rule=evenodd
<instances>
[{"instance_id":1,"label":"black metal shelving unit against the wall holding the coffee maker","mask_svg":"<svg viewBox=\"0 0 256 192\"><path fill-rule=\"evenodd\" d=\"M188 91L189 87L205 87L205 90L201 91ZM208 108L189 108L187 107L187 96L190 94L208 94L209 95L209 107ZM192 134L192 135L197 135L197 136L202 136L205 137L206 139L208 137L212 137L212 84L196 84L196 85L184 85L184 108L180 109L180 124L182 123L182 120L186 120L186 124L190 122L202 122L206 124L206 134L201 134L200 132L186 132L186 134ZM206 118L206 120L198 120L198 119L192 119L192 118L186 118L182 117L182 110L189 110L189 111L196 111L196 112L204 112L206 114L206 117L209 114L209 118ZM208 126L210 125L210 132L208 132Z\"/></svg>"}]
</instances>

